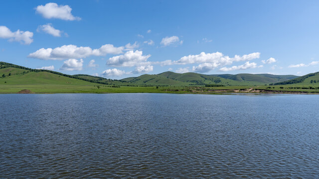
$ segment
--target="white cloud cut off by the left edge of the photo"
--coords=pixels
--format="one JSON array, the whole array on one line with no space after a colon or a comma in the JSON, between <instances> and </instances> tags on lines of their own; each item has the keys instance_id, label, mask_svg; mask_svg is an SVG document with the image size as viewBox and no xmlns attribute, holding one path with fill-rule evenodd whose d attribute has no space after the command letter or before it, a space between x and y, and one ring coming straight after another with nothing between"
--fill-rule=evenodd
<instances>
[{"instance_id":1,"label":"white cloud cut off by the left edge of the photo","mask_svg":"<svg viewBox=\"0 0 319 179\"><path fill-rule=\"evenodd\" d=\"M24 44L30 44L33 42L33 32L20 31L11 32L6 26L0 26L0 38L9 39L9 41L23 41Z\"/></svg>"}]
</instances>

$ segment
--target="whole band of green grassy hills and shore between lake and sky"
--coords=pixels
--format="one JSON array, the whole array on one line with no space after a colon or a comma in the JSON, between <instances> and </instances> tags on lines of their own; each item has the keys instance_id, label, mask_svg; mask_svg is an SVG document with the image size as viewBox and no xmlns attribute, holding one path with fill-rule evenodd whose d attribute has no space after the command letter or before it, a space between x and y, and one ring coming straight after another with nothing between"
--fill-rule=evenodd
<instances>
[{"instance_id":1,"label":"whole band of green grassy hills and shore between lake and sky","mask_svg":"<svg viewBox=\"0 0 319 179\"><path fill-rule=\"evenodd\" d=\"M22 89L33 93L319 93L319 73L297 77L164 72L111 80L83 74L71 76L0 62L0 93L17 93Z\"/></svg>"}]
</instances>

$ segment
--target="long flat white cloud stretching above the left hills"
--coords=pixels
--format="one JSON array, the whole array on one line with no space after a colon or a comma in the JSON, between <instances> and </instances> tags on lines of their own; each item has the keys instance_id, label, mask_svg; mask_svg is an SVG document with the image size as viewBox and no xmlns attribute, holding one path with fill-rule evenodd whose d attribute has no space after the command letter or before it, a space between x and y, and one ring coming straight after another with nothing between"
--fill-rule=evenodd
<instances>
[{"instance_id":1,"label":"long flat white cloud stretching above the left hills","mask_svg":"<svg viewBox=\"0 0 319 179\"><path fill-rule=\"evenodd\" d=\"M36 52L30 53L29 58L41 60L64 60L86 58L88 56L105 56L107 54L121 54L124 47L114 47L112 44L106 44L99 49L91 49L90 47L77 47L76 45L63 45L61 47L41 48Z\"/></svg>"}]
</instances>

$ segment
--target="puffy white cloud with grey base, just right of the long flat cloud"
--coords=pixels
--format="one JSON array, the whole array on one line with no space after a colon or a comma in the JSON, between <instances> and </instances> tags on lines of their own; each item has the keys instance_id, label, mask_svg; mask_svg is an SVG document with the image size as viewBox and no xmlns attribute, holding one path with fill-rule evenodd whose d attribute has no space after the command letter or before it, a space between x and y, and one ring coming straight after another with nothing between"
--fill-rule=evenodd
<instances>
[{"instance_id":1,"label":"puffy white cloud with grey base, just right of the long flat cloud","mask_svg":"<svg viewBox=\"0 0 319 179\"><path fill-rule=\"evenodd\" d=\"M147 64L148 58L151 55L143 55L142 51L130 50L123 55L114 56L109 58L107 65L115 67L133 67L133 66L142 66L142 64Z\"/></svg>"}]
</instances>

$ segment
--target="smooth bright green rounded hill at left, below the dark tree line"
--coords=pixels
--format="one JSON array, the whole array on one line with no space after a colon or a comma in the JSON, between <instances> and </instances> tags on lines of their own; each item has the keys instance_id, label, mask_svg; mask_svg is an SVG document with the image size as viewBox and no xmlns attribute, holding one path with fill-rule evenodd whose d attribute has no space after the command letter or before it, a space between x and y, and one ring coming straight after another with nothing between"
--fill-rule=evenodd
<instances>
[{"instance_id":1,"label":"smooth bright green rounded hill at left, below the dark tree line","mask_svg":"<svg viewBox=\"0 0 319 179\"><path fill-rule=\"evenodd\" d=\"M95 83L72 79L49 72L29 72L22 75L7 76L0 78L1 85L83 85L93 86Z\"/></svg>"}]
</instances>

